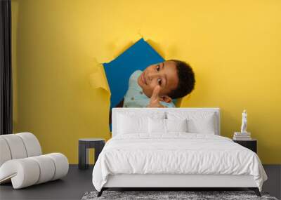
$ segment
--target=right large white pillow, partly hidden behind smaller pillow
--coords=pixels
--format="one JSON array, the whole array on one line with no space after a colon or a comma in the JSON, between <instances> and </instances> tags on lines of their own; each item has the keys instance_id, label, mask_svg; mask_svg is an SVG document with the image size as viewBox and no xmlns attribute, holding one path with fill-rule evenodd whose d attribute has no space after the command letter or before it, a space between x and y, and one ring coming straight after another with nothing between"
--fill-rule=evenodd
<instances>
[{"instance_id":1,"label":"right large white pillow, partly hidden behind smaller pillow","mask_svg":"<svg viewBox=\"0 0 281 200\"><path fill-rule=\"evenodd\" d=\"M168 119L187 119L188 133L216 133L214 112L167 112Z\"/></svg>"}]
</instances>

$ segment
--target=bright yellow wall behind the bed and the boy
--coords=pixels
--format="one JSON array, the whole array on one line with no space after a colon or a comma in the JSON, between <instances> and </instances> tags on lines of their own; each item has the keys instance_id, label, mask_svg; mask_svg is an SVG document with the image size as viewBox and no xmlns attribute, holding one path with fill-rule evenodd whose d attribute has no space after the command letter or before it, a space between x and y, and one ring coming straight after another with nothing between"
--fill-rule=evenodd
<instances>
[{"instance_id":1,"label":"bright yellow wall behind the bed and the boy","mask_svg":"<svg viewBox=\"0 0 281 200\"><path fill-rule=\"evenodd\" d=\"M12 0L14 132L77 164L79 138L110 138L97 63L141 36L196 74L183 107L221 107L221 133L248 130L263 164L281 164L281 1ZM94 78L96 79L96 78Z\"/></svg>"}]
</instances>

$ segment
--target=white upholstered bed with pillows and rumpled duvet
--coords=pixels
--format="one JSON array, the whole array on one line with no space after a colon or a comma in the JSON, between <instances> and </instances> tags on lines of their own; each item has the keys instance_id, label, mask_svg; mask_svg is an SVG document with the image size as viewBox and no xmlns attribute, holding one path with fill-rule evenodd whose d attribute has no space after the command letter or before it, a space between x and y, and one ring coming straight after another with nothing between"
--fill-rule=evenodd
<instances>
[{"instance_id":1,"label":"white upholstered bed with pillows and rumpled duvet","mask_svg":"<svg viewBox=\"0 0 281 200\"><path fill-rule=\"evenodd\" d=\"M267 179L259 156L221 136L219 108L114 108L112 138L93 168L108 188L247 187Z\"/></svg>"}]
</instances>

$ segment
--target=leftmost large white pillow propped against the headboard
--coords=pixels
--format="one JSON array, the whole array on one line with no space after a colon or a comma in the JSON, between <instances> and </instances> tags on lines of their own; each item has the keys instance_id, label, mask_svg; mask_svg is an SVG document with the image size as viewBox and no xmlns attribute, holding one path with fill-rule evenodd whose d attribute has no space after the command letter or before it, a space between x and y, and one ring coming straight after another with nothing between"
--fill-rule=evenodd
<instances>
[{"instance_id":1,"label":"leftmost large white pillow propped against the headboard","mask_svg":"<svg viewBox=\"0 0 281 200\"><path fill-rule=\"evenodd\" d=\"M119 134L148 133L148 117L119 114L117 128Z\"/></svg>"}]
</instances>

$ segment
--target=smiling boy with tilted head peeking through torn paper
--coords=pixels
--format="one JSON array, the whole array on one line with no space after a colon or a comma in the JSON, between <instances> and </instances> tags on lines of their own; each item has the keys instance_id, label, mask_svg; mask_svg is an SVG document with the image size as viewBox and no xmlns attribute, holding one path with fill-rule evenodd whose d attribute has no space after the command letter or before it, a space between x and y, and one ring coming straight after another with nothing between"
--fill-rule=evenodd
<instances>
[{"instance_id":1,"label":"smiling boy with tilted head peeking through torn paper","mask_svg":"<svg viewBox=\"0 0 281 200\"><path fill-rule=\"evenodd\" d=\"M194 85L195 75L190 65L166 60L131 74L123 107L175 107L172 100L191 93Z\"/></svg>"}]
</instances>

